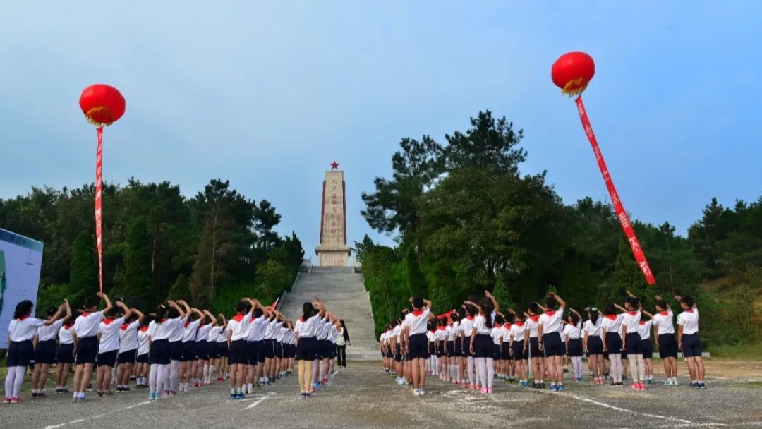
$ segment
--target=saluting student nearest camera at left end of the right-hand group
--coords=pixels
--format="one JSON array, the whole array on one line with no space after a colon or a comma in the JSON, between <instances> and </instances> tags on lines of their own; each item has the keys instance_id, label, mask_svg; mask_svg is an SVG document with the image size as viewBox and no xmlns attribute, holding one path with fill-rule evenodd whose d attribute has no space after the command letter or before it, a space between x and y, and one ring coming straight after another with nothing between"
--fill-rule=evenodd
<instances>
[{"instance_id":1,"label":"saluting student nearest camera at left end of the right-hand group","mask_svg":"<svg viewBox=\"0 0 762 429\"><path fill-rule=\"evenodd\" d=\"M431 313L431 301L415 296L410 299L413 311L405 315L402 322L403 354L409 354L413 379L413 395L424 395L426 388L426 357L428 340L426 331Z\"/></svg>"}]
</instances>

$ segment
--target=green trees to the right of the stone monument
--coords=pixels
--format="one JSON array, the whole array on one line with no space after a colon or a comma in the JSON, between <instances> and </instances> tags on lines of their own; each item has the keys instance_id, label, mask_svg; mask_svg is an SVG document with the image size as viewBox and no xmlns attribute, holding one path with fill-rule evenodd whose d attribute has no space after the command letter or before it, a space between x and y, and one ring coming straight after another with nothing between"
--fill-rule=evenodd
<instances>
[{"instance_id":1,"label":"green trees to the right of the stone monument","mask_svg":"<svg viewBox=\"0 0 762 429\"><path fill-rule=\"evenodd\" d=\"M648 287L609 204L564 203L544 172L520 174L522 138L485 111L443 143L401 140L392 176L362 196L368 224L398 245L367 235L355 243L377 331L411 294L446 311L483 290L517 308L549 291L584 308L621 302L631 290L651 307L654 293L695 296L709 344L762 333L762 197L733 207L712 199L687 236L668 222L633 221L658 280Z\"/></svg>"}]
</instances>

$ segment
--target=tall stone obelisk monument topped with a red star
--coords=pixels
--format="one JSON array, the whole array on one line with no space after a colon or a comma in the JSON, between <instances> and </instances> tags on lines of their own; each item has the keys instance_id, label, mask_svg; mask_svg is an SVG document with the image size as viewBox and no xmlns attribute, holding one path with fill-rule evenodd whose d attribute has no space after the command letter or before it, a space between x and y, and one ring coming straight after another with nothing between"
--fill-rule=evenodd
<instances>
[{"instance_id":1,"label":"tall stone obelisk monument topped with a red star","mask_svg":"<svg viewBox=\"0 0 762 429\"><path fill-rule=\"evenodd\" d=\"M338 162L331 162L323 181L322 214L320 216L320 245L315 248L321 267L346 267L351 249L347 246L347 205L344 171Z\"/></svg>"}]
</instances>

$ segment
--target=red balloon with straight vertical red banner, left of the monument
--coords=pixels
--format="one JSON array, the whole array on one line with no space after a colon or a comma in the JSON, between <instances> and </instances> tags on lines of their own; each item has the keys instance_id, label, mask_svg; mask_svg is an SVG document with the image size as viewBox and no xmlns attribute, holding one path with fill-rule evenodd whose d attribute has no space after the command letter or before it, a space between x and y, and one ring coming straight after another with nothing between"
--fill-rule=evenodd
<instances>
[{"instance_id":1,"label":"red balloon with straight vertical red banner, left of the monument","mask_svg":"<svg viewBox=\"0 0 762 429\"><path fill-rule=\"evenodd\" d=\"M124 114L124 97L110 85L90 85L79 96L79 107L89 123L97 126L98 149L95 151L95 240L98 245L98 288L103 292L103 127L117 122Z\"/></svg>"}]
</instances>

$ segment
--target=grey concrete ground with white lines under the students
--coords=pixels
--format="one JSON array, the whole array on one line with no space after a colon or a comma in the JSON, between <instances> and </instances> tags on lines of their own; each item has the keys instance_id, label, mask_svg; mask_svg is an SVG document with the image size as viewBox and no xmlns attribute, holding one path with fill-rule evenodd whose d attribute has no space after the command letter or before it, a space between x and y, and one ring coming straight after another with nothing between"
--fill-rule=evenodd
<instances>
[{"instance_id":1,"label":"grey concrete ground with white lines under the students","mask_svg":"<svg viewBox=\"0 0 762 429\"><path fill-rule=\"evenodd\" d=\"M758 367L752 364L751 373L758 375ZM226 383L155 402L145 391L88 393L78 404L70 395L53 392L33 401L25 392L21 404L0 404L0 427L762 427L762 383L748 376L709 377L703 391L659 384L632 392L567 382L566 392L555 393L496 382L494 395L436 377L430 382L427 395L414 397L379 363L351 362L312 399L299 399L296 376L239 401L228 399Z\"/></svg>"}]
</instances>

